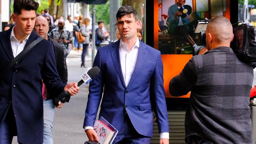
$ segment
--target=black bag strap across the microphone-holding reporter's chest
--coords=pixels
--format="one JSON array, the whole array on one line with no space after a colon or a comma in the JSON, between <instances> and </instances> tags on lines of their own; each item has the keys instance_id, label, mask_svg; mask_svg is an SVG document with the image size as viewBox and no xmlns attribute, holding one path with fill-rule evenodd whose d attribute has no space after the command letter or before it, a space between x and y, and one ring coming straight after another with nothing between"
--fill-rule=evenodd
<instances>
[{"instance_id":1,"label":"black bag strap across the microphone-holding reporter's chest","mask_svg":"<svg viewBox=\"0 0 256 144\"><path fill-rule=\"evenodd\" d=\"M13 60L11 60L11 62L6 66L6 69L4 69L0 74L0 80L4 77L4 75L6 74L6 72L8 70L10 70L10 68L12 68L18 61L20 61L21 59L23 59L28 52L30 52L30 50L32 50L34 48L35 45L37 45L39 42L41 42L44 38L43 37L39 37L36 40L34 40L33 42L31 42L26 48L24 48L22 50L22 52L20 52L20 54L18 54Z\"/></svg>"}]
</instances>

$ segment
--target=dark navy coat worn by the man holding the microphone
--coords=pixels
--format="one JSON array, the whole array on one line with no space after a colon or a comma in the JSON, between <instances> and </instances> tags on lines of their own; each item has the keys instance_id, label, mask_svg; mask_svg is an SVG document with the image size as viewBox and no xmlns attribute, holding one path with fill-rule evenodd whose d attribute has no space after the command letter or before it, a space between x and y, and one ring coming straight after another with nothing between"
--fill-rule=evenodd
<instances>
[{"instance_id":1,"label":"dark navy coat worn by the man holding the microphone","mask_svg":"<svg viewBox=\"0 0 256 144\"><path fill-rule=\"evenodd\" d=\"M0 32L1 70L13 59L11 30ZM32 31L26 46L38 37ZM12 103L20 143L43 143L42 79L48 90L54 90L56 94L63 91L65 84L61 82L56 70L54 48L46 40L39 42L0 81L0 122L5 119Z\"/></svg>"}]
</instances>

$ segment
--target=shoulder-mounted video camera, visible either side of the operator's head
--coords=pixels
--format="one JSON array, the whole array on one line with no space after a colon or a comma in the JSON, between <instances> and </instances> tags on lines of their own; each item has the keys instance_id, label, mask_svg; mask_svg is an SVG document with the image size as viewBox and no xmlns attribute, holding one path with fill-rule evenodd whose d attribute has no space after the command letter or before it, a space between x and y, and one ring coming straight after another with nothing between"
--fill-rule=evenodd
<instances>
[{"instance_id":1,"label":"shoulder-mounted video camera, visible either side of the operator's head","mask_svg":"<svg viewBox=\"0 0 256 144\"><path fill-rule=\"evenodd\" d=\"M199 32L201 46L196 46L193 55L198 55L200 50L206 45L206 26L208 21L198 20L195 33ZM230 48L241 61L256 62L256 28L251 23L239 22L232 24L234 39L230 43Z\"/></svg>"}]
</instances>

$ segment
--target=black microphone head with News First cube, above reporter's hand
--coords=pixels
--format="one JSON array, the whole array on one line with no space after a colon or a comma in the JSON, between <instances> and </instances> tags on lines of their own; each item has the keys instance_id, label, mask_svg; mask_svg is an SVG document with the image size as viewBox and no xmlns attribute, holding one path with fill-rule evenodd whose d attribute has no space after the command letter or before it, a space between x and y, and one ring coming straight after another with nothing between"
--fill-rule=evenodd
<instances>
[{"instance_id":1,"label":"black microphone head with News First cube, above reporter's hand","mask_svg":"<svg viewBox=\"0 0 256 144\"><path fill-rule=\"evenodd\" d=\"M78 87L80 85L82 85L84 82L86 84L88 84L89 82L92 81L92 77L95 77L98 73L100 72L100 69L98 68L98 66L94 66L93 68L91 68L90 70L88 70L88 72L83 73L81 76L81 80L78 82Z\"/></svg>"}]
</instances>

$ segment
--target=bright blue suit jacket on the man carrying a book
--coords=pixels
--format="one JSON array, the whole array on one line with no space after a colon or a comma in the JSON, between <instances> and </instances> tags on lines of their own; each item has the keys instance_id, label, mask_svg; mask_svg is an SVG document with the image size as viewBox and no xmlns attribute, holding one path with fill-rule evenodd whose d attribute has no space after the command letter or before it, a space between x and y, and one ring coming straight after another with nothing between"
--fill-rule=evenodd
<instances>
[{"instance_id":1,"label":"bright blue suit jacket on the man carrying a book","mask_svg":"<svg viewBox=\"0 0 256 144\"><path fill-rule=\"evenodd\" d=\"M117 130L122 127L126 109L136 131L152 137L152 110L155 110L159 132L169 132L160 52L139 42L137 62L126 87L119 43L120 40L98 49L93 66L98 66L100 73L90 83L83 127L94 125L102 98L99 116L108 120Z\"/></svg>"}]
</instances>

